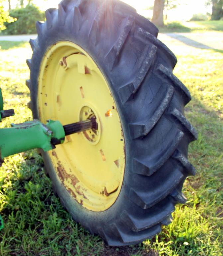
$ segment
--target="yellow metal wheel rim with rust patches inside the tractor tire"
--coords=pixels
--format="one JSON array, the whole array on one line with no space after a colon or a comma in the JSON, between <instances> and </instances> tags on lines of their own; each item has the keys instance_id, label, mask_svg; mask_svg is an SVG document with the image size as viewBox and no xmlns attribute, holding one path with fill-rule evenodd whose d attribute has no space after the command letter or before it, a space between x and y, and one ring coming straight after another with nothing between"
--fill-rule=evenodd
<instances>
[{"instance_id":1,"label":"yellow metal wheel rim with rust patches inside the tractor tire","mask_svg":"<svg viewBox=\"0 0 223 256\"><path fill-rule=\"evenodd\" d=\"M96 116L98 130L66 136L48 152L71 196L101 212L114 204L124 177L125 144L120 118L102 72L80 46L60 41L43 57L38 80L40 120L63 125Z\"/></svg>"}]
</instances>

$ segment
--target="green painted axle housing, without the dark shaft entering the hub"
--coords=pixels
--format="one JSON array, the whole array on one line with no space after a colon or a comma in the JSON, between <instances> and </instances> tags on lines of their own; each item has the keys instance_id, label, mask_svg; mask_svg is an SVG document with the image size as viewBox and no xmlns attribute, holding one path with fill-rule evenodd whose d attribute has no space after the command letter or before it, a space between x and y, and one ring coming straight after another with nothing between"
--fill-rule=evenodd
<instances>
[{"instance_id":1,"label":"green painted axle housing, without the dark shaft entering the hub","mask_svg":"<svg viewBox=\"0 0 223 256\"><path fill-rule=\"evenodd\" d=\"M65 132L59 121L49 120L46 125L39 120L12 124L11 128L0 129L0 162L7 156L34 148L49 151L64 139Z\"/></svg>"}]
</instances>

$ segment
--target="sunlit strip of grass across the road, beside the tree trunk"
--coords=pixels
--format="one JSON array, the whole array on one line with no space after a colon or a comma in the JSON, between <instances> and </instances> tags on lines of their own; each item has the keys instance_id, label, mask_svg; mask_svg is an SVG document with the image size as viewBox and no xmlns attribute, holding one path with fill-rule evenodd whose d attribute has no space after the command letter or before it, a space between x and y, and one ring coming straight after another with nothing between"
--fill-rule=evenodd
<instances>
[{"instance_id":1,"label":"sunlit strip of grass across the road, beside the tree trunk","mask_svg":"<svg viewBox=\"0 0 223 256\"><path fill-rule=\"evenodd\" d=\"M160 27L161 33L167 32L206 32L223 31L223 20L211 21L188 21L188 22L170 22Z\"/></svg>"}]
</instances>

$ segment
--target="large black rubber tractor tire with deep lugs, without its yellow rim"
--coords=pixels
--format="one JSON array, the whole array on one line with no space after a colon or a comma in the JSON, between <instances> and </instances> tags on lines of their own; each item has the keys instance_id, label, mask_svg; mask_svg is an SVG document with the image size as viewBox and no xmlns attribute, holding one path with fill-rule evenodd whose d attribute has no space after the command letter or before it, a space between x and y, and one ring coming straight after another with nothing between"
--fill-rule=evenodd
<instances>
[{"instance_id":1,"label":"large black rubber tractor tire with deep lugs, without its yellow rim","mask_svg":"<svg viewBox=\"0 0 223 256\"><path fill-rule=\"evenodd\" d=\"M111 23L112 22L112 23ZM61 40L81 46L109 83L125 139L126 166L121 192L106 211L82 207L61 186L46 153L43 159L53 188L74 220L109 245L139 243L171 222L181 190L195 169L187 160L188 144L197 133L184 117L191 100L173 75L174 54L156 37L157 28L132 7L117 0L63 0L37 23L30 80L33 117L38 118L37 89L41 60Z\"/></svg>"}]
</instances>

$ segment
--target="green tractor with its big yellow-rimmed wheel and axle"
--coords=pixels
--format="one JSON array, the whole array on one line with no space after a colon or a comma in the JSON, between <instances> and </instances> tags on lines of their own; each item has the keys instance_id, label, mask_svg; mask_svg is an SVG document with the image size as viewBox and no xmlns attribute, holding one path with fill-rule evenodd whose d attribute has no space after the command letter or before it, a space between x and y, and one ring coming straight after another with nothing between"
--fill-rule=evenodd
<instances>
[{"instance_id":1,"label":"green tractor with its big yellow-rimmed wheel and axle","mask_svg":"<svg viewBox=\"0 0 223 256\"><path fill-rule=\"evenodd\" d=\"M1 159L41 148L75 221L111 246L153 237L195 174L191 96L172 73L175 55L118 0L63 0L36 28L26 81L34 121L0 130ZM11 114L1 104L2 118Z\"/></svg>"}]
</instances>

